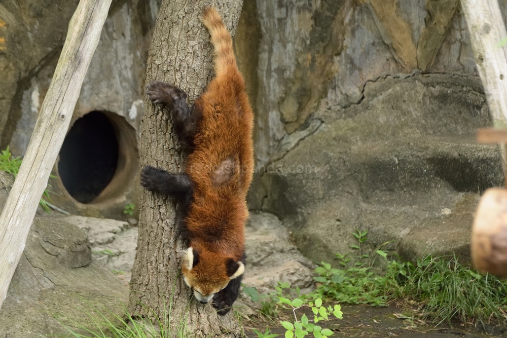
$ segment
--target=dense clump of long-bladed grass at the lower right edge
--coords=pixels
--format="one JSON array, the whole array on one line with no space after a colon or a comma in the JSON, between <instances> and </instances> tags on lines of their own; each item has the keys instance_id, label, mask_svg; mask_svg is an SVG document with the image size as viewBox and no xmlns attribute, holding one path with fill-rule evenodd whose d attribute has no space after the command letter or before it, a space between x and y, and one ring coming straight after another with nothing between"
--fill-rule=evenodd
<instances>
[{"instance_id":1,"label":"dense clump of long-bladed grass at the lower right edge","mask_svg":"<svg viewBox=\"0 0 507 338\"><path fill-rule=\"evenodd\" d=\"M426 257L416 265L406 263L407 275L390 278L396 293L405 299L424 304L426 316L440 322L455 318L462 322L488 322L491 318L505 322L507 315L507 281L481 275L461 265L456 256Z\"/></svg>"}]
</instances>

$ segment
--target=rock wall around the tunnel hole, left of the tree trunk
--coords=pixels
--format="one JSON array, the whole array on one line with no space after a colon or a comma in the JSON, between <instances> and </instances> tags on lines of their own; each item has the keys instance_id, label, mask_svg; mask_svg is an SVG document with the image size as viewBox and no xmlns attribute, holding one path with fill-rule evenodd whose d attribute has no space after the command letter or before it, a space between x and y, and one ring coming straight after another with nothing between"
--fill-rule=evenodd
<instances>
[{"instance_id":1,"label":"rock wall around the tunnel hole, left of the tree trunk","mask_svg":"<svg viewBox=\"0 0 507 338\"><path fill-rule=\"evenodd\" d=\"M159 3L118 0L111 5L70 128L89 112L103 113L118 141L118 163L111 183L97 198L80 203L60 179L59 158L53 170L56 178L50 179L55 193L51 197L69 212L121 218L126 204L137 203L144 71ZM77 4L58 0L0 4L0 148L10 145L15 156L26 151Z\"/></svg>"}]
</instances>

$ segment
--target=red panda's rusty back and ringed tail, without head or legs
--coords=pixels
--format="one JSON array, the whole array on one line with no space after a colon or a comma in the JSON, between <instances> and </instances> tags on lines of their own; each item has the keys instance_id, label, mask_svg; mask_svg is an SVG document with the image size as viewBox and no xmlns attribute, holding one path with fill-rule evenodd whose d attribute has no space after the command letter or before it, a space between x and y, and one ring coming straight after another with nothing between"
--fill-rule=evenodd
<instances>
[{"instance_id":1,"label":"red panda's rusty back and ringed tail, without head or legs","mask_svg":"<svg viewBox=\"0 0 507 338\"><path fill-rule=\"evenodd\" d=\"M253 113L220 14L209 8L202 21L215 48L216 77L195 102L202 120L186 165L195 184L186 226L193 234L190 246L240 260L253 173ZM209 242L210 233L219 243Z\"/></svg>"}]
</instances>

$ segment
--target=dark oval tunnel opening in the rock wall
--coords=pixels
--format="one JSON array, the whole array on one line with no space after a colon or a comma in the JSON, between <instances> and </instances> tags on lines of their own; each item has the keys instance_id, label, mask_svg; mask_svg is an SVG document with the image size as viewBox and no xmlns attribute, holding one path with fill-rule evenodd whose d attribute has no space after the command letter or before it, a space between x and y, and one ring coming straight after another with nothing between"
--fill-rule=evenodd
<instances>
[{"instance_id":1,"label":"dark oval tunnel opening in the rock wall","mask_svg":"<svg viewBox=\"0 0 507 338\"><path fill-rule=\"evenodd\" d=\"M118 166L118 139L113 123L100 111L76 120L63 141L58 173L67 192L81 203L92 202L111 182Z\"/></svg>"}]
</instances>

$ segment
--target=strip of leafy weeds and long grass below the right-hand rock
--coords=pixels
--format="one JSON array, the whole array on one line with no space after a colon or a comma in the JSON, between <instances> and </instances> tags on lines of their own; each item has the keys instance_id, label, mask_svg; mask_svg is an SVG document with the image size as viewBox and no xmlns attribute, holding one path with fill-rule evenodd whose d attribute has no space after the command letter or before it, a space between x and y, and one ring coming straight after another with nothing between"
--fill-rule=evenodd
<instances>
[{"instance_id":1,"label":"strip of leafy weeds and long grass below the right-hand rock","mask_svg":"<svg viewBox=\"0 0 507 338\"><path fill-rule=\"evenodd\" d=\"M377 253L387 256L381 250ZM506 280L481 275L460 264L456 256L428 256L415 264L387 258L386 262L381 273L373 272L367 264L334 269L322 262L315 269L319 285L309 296L373 306L385 306L395 300L415 302L420 305L423 318L437 323L453 319L463 323L506 321Z\"/></svg>"}]
</instances>

